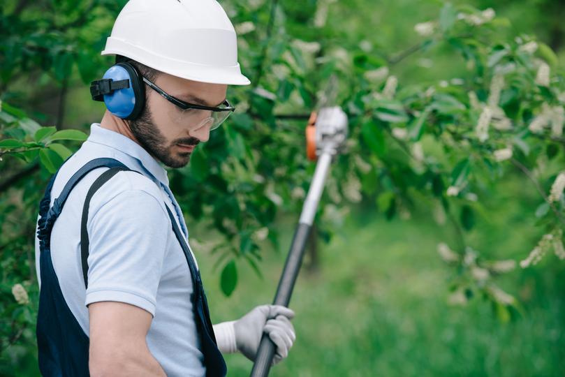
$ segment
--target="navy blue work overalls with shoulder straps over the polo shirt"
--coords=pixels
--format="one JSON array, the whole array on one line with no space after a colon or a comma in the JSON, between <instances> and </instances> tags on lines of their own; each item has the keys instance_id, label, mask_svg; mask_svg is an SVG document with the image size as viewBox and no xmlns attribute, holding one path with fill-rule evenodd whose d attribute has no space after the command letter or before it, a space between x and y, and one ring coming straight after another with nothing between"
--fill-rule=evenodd
<instances>
[{"instance_id":1,"label":"navy blue work overalls with shoulder straps over the polo shirt","mask_svg":"<svg viewBox=\"0 0 565 377\"><path fill-rule=\"evenodd\" d=\"M57 274L55 274L51 260L50 239L53 224L57 220L57 217L59 217L59 214L61 214L68 194L71 193L73 187L82 177L87 175L88 172L101 167L108 167L110 170L105 171L91 186L82 214L81 242L86 241L85 244L88 245L88 239L86 238L85 240L83 233L85 233L85 219L88 217L87 208L91 195L118 171L130 170L126 165L113 158L96 158L90 161L75 172L73 177L71 177L63 188L63 191L61 191L61 195L54 200L53 206L50 207L51 189L55 177L57 177L57 173L55 173L47 185L45 196L39 205L40 219L38 221L38 238L40 245L39 263L41 267L41 290L37 317L37 343L39 369L43 376L89 376L89 338L87 334L82 331L82 327L80 327L75 316L73 316L71 309L68 308L63 293L61 293L59 279L57 278ZM200 272L196 268L196 263L189 251L189 246L186 244L173 214L170 212L168 206L166 206L166 208L170 222L173 224L173 231L182 247L186 263L188 263L191 273L193 293L191 294L190 300L193 304L194 319L200 337L200 350L204 355L206 376L226 376L226 362L223 360L217 347L216 338L214 337L214 330L210 322L210 312L208 311L206 295L204 293L202 280L200 279ZM82 247L82 269L85 276L87 276L88 269L86 263L88 255L86 254L85 256L87 250L88 246L86 246L86 248ZM87 280L85 279L85 286L86 285ZM187 300L189 299L189 297L186 298Z\"/></svg>"}]
</instances>

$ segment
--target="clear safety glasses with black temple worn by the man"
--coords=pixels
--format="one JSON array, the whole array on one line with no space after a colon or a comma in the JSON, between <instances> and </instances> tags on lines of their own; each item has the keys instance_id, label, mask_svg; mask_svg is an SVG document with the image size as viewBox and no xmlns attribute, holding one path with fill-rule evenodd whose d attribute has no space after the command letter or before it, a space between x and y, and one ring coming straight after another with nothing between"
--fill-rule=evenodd
<instances>
[{"instance_id":1,"label":"clear safety glasses with black temple worn by the man","mask_svg":"<svg viewBox=\"0 0 565 377\"><path fill-rule=\"evenodd\" d=\"M207 124L211 124L210 131L215 130L220 126L220 124L223 123L223 121L228 119L232 112L235 111L235 108L230 105L228 100L223 101L219 107L204 106L197 105L196 103L184 102L182 100L179 100L179 98L167 94L166 91L158 87L153 82L147 80L147 78L142 78L143 82L145 82L145 84L147 84L151 89L161 94L163 98L165 98L170 103L173 103L173 105L184 110L184 112L186 112L186 118L188 119L188 121L198 122L196 129Z\"/></svg>"}]
</instances>

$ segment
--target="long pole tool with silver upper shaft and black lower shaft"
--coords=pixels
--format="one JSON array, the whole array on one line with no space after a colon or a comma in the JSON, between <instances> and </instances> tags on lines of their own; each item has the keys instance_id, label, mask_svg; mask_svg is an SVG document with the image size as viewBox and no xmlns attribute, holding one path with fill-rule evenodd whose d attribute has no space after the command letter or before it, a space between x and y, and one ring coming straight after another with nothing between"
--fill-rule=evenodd
<instances>
[{"instance_id":1,"label":"long pole tool with silver upper shaft and black lower shaft","mask_svg":"<svg viewBox=\"0 0 565 377\"><path fill-rule=\"evenodd\" d=\"M308 190L308 195L302 206L302 214L296 227L291 249L288 251L286 263L279 280L277 294L273 304L288 306L291 301L294 284L302 265L304 246L314 222L316 209L323 192L325 178L330 170L330 164L343 147L347 135L347 118L341 108L323 108L316 119L316 155L318 163L314 177ZM251 377L266 377L269 374L275 346L267 334L263 334L259 345Z\"/></svg>"}]
</instances>

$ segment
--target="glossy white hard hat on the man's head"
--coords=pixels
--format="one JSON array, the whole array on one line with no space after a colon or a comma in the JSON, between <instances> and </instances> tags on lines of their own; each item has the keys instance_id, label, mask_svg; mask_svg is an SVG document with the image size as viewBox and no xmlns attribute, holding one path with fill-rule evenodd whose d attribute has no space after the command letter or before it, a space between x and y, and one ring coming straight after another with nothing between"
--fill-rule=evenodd
<instances>
[{"instance_id":1,"label":"glossy white hard hat on the man's head","mask_svg":"<svg viewBox=\"0 0 565 377\"><path fill-rule=\"evenodd\" d=\"M237 63L233 24L216 0L131 0L102 54L199 82L250 83Z\"/></svg>"}]
</instances>

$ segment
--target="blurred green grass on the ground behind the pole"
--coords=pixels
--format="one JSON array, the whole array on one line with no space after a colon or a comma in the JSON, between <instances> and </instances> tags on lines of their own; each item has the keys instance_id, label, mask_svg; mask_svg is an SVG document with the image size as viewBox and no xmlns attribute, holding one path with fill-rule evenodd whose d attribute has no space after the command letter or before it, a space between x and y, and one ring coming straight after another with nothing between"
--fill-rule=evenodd
<instances>
[{"instance_id":1,"label":"blurred green grass on the ground behind the pole","mask_svg":"<svg viewBox=\"0 0 565 377\"><path fill-rule=\"evenodd\" d=\"M468 242L490 258L524 258L538 230L531 226L533 215L518 213L531 204L499 203L512 207L506 212L511 217L490 210ZM264 253L263 280L240 263L231 297L223 297L217 274L210 273L214 258L198 255L213 321L272 302L293 226L285 223L284 252ZM302 270L290 305L298 339L271 375L564 376L564 263L546 256L543 267L505 276L501 286L520 298L524 315L503 324L480 298L467 306L447 304L455 271L437 256L436 244L450 233L426 213L392 222L372 212L351 216L321 245L319 272ZM242 355L228 355L226 362L230 376L249 375L251 362Z\"/></svg>"}]
</instances>

